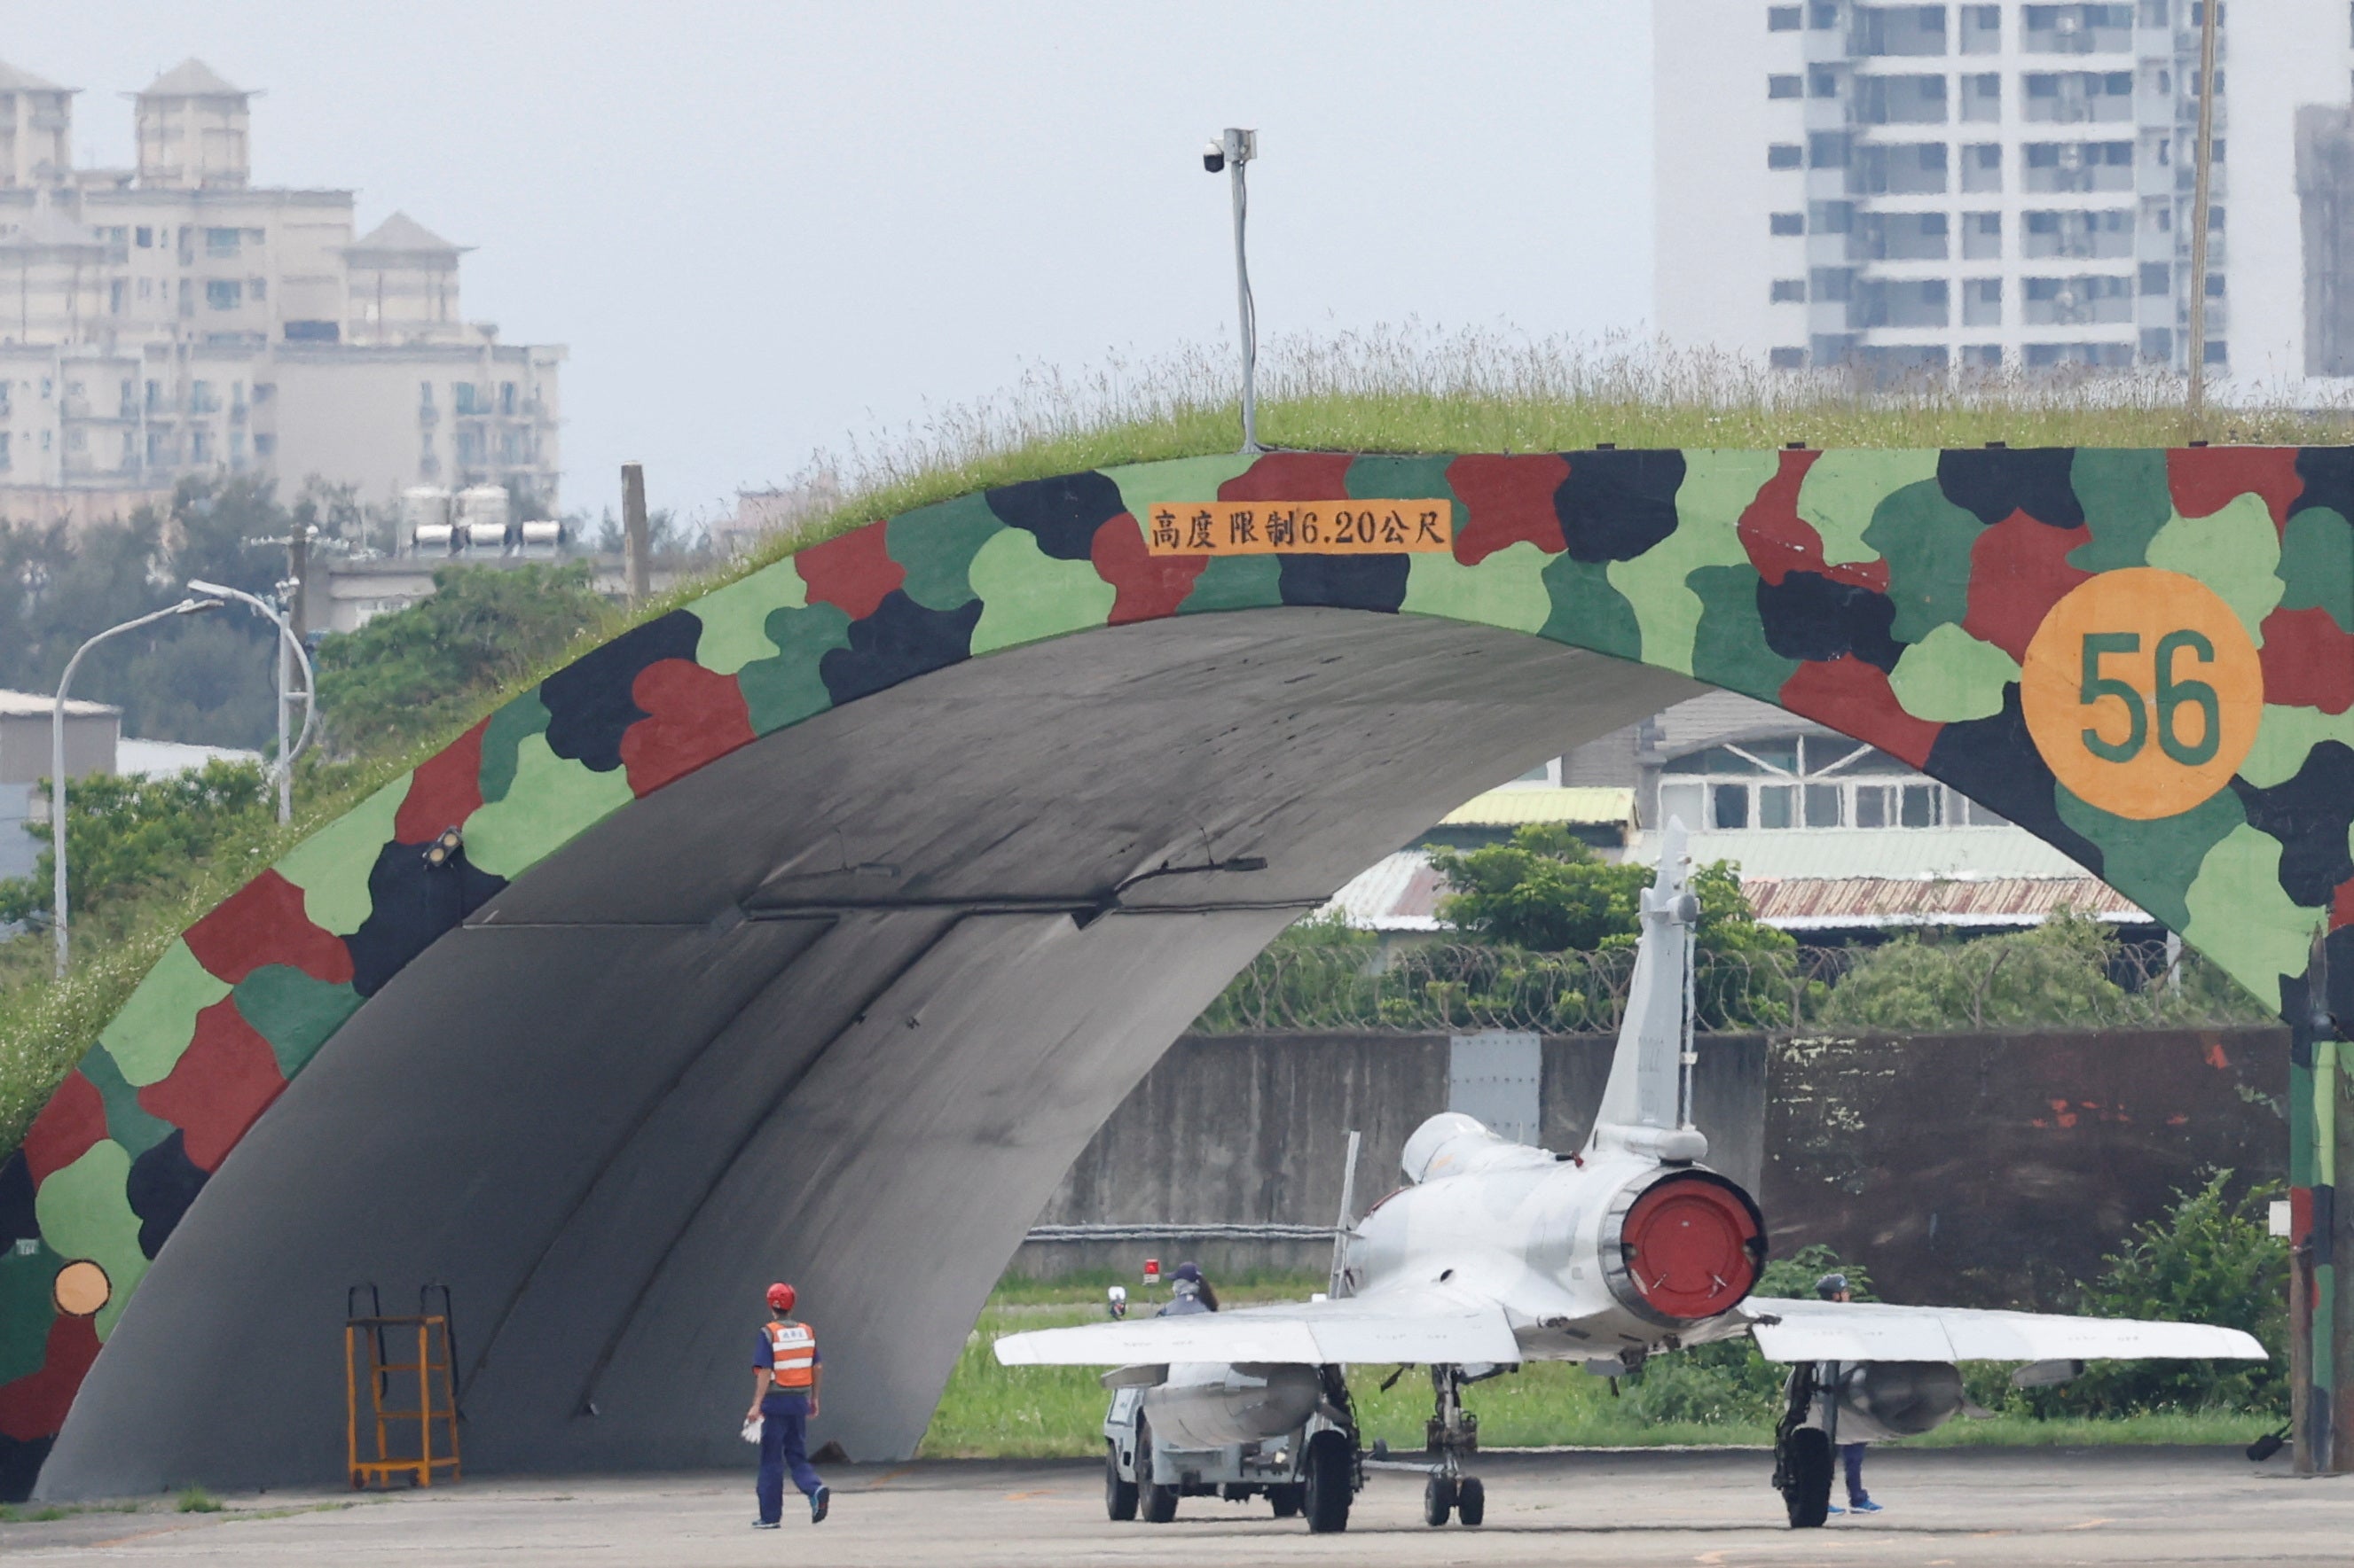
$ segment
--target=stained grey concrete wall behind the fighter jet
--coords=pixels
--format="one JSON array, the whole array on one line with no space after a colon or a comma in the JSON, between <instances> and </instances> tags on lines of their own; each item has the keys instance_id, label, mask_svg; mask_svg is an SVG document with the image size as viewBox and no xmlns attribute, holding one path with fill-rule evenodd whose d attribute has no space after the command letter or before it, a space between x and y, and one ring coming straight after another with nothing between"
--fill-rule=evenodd
<instances>
[{"instance_id":1,"label":"stained grey concrete wall behind the fighter jet","mask_svg":"<svg viewBox=\"0 0 2354 1568\"><path fill-rule=\"evenodd\" d=\"M1542 1143L1577 1147L1610 1041L1544 1041ZM2053 1305L2208 1166L2283 1180L2286 1030L1700 1041L1711 1164L1766 1208L1775 1255L1827 1244L1890 1300ZM1330 1225L1346 1131L1358 1208L1448 1103L1443 1034L1186 1037L1064 1175L1040 1225ZM1323 1269L1323 1241L1031 1241L1012 1272Z\"/></svg>"}]
</instances>

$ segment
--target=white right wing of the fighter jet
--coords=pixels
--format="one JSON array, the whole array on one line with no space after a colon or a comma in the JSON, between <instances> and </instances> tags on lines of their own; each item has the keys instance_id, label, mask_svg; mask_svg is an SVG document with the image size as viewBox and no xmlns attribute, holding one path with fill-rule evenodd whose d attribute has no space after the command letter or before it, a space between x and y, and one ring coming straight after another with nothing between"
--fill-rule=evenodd
<instances>
[{"instance_id":1,"label":"white right wing of the fighter jet","mask_svg":"<svg viewBox=\"0 0 2354 1568\"><path fill-rule=\"evenodd\" d=\"M2265 1359L2255 1335L2213 1324L1763 1295L1742 1302L1742 1312L1754 1319L1780 1319L1749 1324L1749 1333L1770 1361Z\"/></svg>"}]
</instances>

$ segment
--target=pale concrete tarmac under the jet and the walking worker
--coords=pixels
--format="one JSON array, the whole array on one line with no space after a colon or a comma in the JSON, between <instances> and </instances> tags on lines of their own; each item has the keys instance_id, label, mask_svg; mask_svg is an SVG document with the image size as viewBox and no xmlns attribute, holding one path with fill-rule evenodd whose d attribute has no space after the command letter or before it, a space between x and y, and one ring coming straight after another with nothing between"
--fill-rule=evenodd
<instances>
[{"instance_id":1,"label":"pale concrete tarmac under the jet and the walking worker","mask_svg":"<svg viewBox=\"0 0 2354 1568\"><path fill-rule=\"evenodd\" d=\"M1168 1526L1104 1519L1102 1467L845 1465L833 1516L751 1530L742 1474L466 1481L353 1502L351 1493L235 1497L224 1514L78 1514L0 1523L7 1563L822 1563L1059 1568L1062 1563L1695 1563L1883 1568L2043 1563L2354 1561L2354 1479L2298 1481L2222 1448L1876 1450L1883 1514L1789 1530L1758 1450L1483 1455L1488 1523L1422 1523L1419 1476L1377 1472L1346 1535L1309 1535L1266 1505L1186 1497ZM160 1505L148 1505L151 1509ZM292 1512L299 1509L299 1512Z\"/></svg>"}]
</instances>

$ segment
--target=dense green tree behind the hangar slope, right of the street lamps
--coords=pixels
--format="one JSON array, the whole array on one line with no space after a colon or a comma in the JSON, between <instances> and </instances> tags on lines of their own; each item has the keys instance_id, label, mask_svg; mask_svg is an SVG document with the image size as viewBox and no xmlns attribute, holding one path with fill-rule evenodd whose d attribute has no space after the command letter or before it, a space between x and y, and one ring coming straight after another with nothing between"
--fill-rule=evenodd
<instances>
[{"instance_id":1,"label":"dense green tree behind the hangar slope, right of the street lamps","mask_svg":"<svg viewBox=\"0 0 2354 1568\"><path fill-rule=\"evenodd\" d=\"M480 698L612 623L588 562L443 567L433 597L318 644L325 743L351 757L454 729Z\"/></svg>"}]
</instances>

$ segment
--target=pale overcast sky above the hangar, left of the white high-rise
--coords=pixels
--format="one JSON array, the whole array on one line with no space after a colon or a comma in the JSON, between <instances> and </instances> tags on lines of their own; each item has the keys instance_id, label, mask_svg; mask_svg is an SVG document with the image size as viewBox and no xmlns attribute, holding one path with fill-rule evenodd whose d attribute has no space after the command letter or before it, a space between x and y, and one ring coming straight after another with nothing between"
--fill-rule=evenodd
<instances>
[{"instance_id":1,"label":"pale overcast sky above the hangar, left of the white high-rise","mask_svg":"<svg viewBox=\"0 0 2354 1568\"><path fill-rule=\"evenodd\" d=\"M1650 310L1650 7L0 0L75 158L195 54L257 183L476 247L471 320L567 343L565 503L706 512L1008 386L1231 343L1222 125L1259 129L1259 329Z\"/></svg>"}]
</instances>

